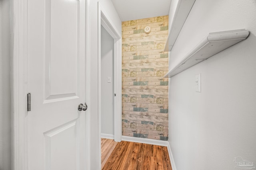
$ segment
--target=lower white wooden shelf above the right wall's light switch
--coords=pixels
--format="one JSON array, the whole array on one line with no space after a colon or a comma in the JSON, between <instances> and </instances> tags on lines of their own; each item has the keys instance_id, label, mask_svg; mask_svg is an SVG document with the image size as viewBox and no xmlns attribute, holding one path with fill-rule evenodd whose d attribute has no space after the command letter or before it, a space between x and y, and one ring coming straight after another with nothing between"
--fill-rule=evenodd
<instances>
[{"instance_id":1,"label":"lower white wooden shelf above the right wall's light switch","mask_svg":"<svg viewBox=\"0 0 256 170\"><path fill-rule=\"evenodd\" d=\"M245 29L209 33L176 66L171 68L164 77L172 77L246 39L248 35L249 31Z\"/></svg>"}]
</instances>

